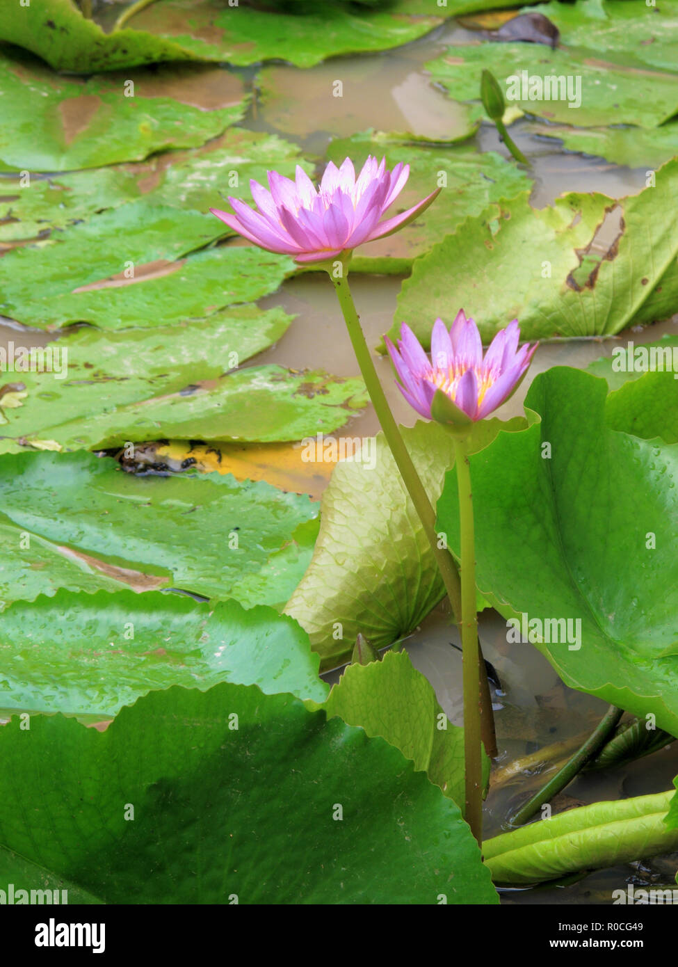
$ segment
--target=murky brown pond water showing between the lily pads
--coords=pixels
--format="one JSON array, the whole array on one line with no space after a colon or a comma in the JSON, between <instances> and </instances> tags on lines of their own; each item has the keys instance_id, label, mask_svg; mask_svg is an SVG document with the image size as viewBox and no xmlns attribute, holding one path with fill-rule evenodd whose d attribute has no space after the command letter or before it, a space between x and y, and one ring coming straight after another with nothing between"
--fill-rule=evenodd
<instances>
[{"instance_id":1,"label":"murky brown pond water showing between the lily pads","mask_svg":"<svg viewBox=\"0 0 678 967\"><path fill-rule=\"evenodd\" d=\"M109 27L120 4L103 8L100 22ZM381 131L411 131L431 137L450 136L458 124L457 105L434 90L424 64L439 56L451 43L464 43L473 35L454 22L426 38L396 51L361 57L341 57L302 71L283 64L268 66L263 73L251 110L243 126L254 131L279 132L296 141L307 154L320 159L334 136L374 128ZM248 84L254 83L254 69L239 71ZM342 97L333 96L333 84L340 80ZM545 141L525 130L520 122L512 128L518 147L532 162L535 185L532 203L538 207L567 190L597 190L612 197L634 193L645 185L645 168L627 168L600 159L568 154L558 142ZM493 150L508 157L495 130L484 125L476 135L482 151ZM610 228L612 230L612 228ZM354 276L352 289L366 330L368 342L376 345L393 321L401 278ZM256 365L280 363L294 368L323 367L340 376L358 375L348 337L339 318L334 291L323 275L306 274L290 278L273 296L260 301L263 308L281 306L297 318L280 343L257 357ZM473 307L464 307L471 314ZM399 321L399 320L398 320ZM642 332L621 334L636 343L675 333L676 322L668 321ZM15 327L0 327L0 341L16 338ZM34 344L51 336L31 332ZM615 339L581 339L549 342L540 347L516 396L503 408L508 418L522 412L529 382L550 366L586 366L601 355L611 354ZM398 421L412 425L416 415L399 395L391 365L375 357L387 396ZM352 421L350 435L371 435L378 429L371 407ZM529 645L508 644L506 625L492 611L480 618L480 634L486 659L495 667L500 688L493 689L501 767L518 756L555 742L590 732L602 718L605 705L591 696L566 688L555 671ZM444 605L440 605L405 647L417 668L433 685L438 699L456 723L461 724L461 657L452 647L458 644ZM339 671L328 673L337 680ZM554 807L624 798L660 792L670 787L678 773L678 743L631 766L604 773L584 773L556 800ZM490 790L485 806L486 835L499 832L507 816L525 801L540 776L521 776ZM674 858L675 859L675 858ZM564 888L510 891L505 902L527 903L610 903L612 890L625 887L630 877L637 882L654 878L670 883L676 863L660 859L649 869L620 866L591 874Z\"/></svg>"}]
</instances>

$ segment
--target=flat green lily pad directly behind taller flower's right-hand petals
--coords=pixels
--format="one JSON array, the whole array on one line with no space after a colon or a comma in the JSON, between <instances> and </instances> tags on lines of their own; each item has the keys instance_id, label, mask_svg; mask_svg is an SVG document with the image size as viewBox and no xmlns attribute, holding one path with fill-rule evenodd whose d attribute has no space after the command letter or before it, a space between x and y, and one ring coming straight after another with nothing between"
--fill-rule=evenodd
<instances>
[{"instance_id":1,"label":"flat green lily pad directly behind taller flower's right-hand petals","mask_svg":"<svg viewBox=\"0 0 678 967\"><path fill-rule=\"evenodd\" d=\"M479 153L467 146L414 145L389 134L365 132L330 144L328 159L340 163L350 157L362 165L368 155L386 158L388 167L398 161L410 165L410 176L393 208L404 211L431 191L443 190L413 224L388 238L358 249L351 259L352 272L406 272L412 260L431 249L469 216L480 215L489 202L513 198L530 188L530 179L492 151Z\"/></svg>"}]
</instances>

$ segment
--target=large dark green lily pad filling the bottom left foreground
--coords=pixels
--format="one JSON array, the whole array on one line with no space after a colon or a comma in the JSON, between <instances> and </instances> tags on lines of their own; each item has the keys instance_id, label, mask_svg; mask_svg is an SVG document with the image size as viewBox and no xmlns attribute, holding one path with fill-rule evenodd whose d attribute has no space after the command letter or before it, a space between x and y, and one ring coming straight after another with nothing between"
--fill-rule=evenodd
<instances>
[{"instance_id":1,"label":"large dark green lily pad filling the bottom left foreground","mask_svg":"<svg viewBox=\"0 0 678 967\"><path fill-rule=\"evenodd\" d=\"M0 729L2 852L106 903L498 902L457 806L291 695L173 688L103 733L19 725Z\"/></svg>"}]
</instances>

